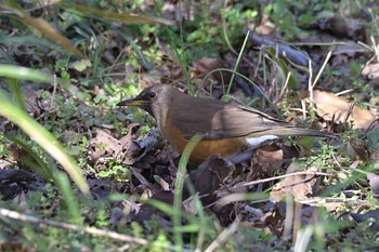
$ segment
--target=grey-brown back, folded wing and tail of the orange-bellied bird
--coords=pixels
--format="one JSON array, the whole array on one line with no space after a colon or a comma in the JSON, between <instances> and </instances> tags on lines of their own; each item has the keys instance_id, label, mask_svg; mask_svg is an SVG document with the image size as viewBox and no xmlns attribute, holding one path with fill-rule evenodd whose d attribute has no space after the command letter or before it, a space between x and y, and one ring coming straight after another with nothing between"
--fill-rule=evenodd
<instances>
[{"instance_id":1,"label":"grey-brown back, folded wing and tail of the orange-bellied bird","mask_svg":"<svg viewBox=\"0 0 379 252\"><path fill-rule=\"evenodd\" d=\"M178 95L175 100L181 101L182 112L174 114L173 123L183 132L183 136L187 141L196 133L204 135L204 140L259 137L262 135L276 135L278 137L331 136L327 132L297 128L256 109L230 105L218 100L194 98L188 95ZM196 108L193 104L197 105Z\"/></svg>"}]
</instances>

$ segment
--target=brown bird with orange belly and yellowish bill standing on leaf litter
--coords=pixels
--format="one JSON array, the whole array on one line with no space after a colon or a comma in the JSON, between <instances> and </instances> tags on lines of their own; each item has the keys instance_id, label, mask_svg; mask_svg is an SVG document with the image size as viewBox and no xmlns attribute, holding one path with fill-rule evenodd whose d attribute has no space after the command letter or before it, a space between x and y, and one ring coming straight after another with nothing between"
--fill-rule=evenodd
<instances>
[{"instance_id":1,"label":"brown bird with orange belly and yellowish bill standing on leaf litter","mask_svg":"<svg viewBox=\"0 0 379 252\"><path fill-rule=\"evenodd\" d=\"M169 84L154 84L117 106L139 107L152 115L165 138L182 152L198 134L190 159L202 162L211 155L230 157L287 136L332 137L334 133L297 128L260 110L210 97L194 97Z\"/></svg>"}]
</instances>

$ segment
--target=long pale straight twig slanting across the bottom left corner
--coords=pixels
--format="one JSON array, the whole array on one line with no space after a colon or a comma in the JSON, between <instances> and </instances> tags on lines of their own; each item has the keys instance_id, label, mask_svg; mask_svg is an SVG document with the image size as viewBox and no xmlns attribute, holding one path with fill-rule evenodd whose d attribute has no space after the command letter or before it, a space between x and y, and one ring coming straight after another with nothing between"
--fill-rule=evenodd
<instances>
[{"instance_id":1,"label":"long pale straight twig slanting across the bottom left corner","mask_svg":"<svg viewBox=\"0 0 379 252\"><path fill-rule=\"evenodd\" d=\"M31 224L37 224L37 225L44 224L48 226L57 227L57 228L62 228L62 229L68 229L68 230L73 230L73 231L83 231L83 233L94 235L94 236L101 236L101 237L110 238L110 239L117 240L117 241L133 243L135 246L147 246L148 244L148 241L145 239L142 239L142 238L135 238L132 236L122 235L122 234L119 234L116 231L103 230L103 229L99 229L95 227L83 227L83 226L69 224L69 223L42 220L42 218L32 216L32 215L18 213L16 211L8 210L8 209L0 209L0 216L17 220L17 221L22 221L22 222L27 222L27 223L31 223ZM154 243L154 247L161 247L161 248L170 250L170 251L174 250L174 248L172 246L162 246L159 243Z\"/></svg>"}]
</instances>

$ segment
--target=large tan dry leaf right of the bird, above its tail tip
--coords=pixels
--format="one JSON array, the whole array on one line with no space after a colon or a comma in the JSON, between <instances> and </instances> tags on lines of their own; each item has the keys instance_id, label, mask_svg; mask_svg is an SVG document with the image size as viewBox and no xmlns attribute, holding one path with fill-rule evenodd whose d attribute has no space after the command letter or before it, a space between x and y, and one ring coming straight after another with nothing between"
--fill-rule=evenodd
<instances>
[{"instance_id":1,"label":"large tan dry leaf right of the bird, above its tail tip","mask_svg":"<svg viewBox=\"0 0 379 252\"><path fill-rule=\"evenodd\" d=\"M334 93L315 90L313 102L319 117L335 122L353 122L353 129L368 129L376 120L370 111L354 106L348 100ZM378 127L378 123L376 125Z\"/></svg>"}]
</instances>

